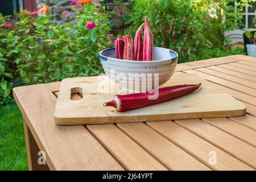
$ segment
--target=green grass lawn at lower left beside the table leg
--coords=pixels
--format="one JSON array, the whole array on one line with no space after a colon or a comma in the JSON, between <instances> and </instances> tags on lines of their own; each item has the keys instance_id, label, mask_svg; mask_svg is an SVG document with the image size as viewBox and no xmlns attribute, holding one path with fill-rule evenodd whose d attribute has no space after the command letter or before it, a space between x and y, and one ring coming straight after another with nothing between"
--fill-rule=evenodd
<instances>
[{"instance_id":1,"label":"green grass lawn at lower left beside the table leg","mask_svg":"<svg viewBox=\"0 0 256 182\"><path fill-rule=\"evenodd\" d=\"M16 104L0 105L0 170L28 170L22 114Z\"/></svg>"}]
</instances>

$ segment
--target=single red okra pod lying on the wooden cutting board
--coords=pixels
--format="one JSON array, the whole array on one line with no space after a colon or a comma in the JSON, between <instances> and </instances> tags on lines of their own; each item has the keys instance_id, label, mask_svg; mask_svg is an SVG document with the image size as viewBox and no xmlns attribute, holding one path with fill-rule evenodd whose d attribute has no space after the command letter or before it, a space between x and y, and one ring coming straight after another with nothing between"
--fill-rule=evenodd
<instances>
[{"instance_id":1,"label":"single red okra pod lying on the wooden cutting board","mask_svg":"<svg viewBox=\"0 0 256 182\"><path fill-rule=\"evenodd\" d=\"M134 93L126 95L115 95L113 100L105 102L104 106L112 106L119 112L137 109L141 107L151 106L162 102L170 101L175 98L185 96L201 86L201 83L196 85L176 85L168 86L158 90L158 98L156 100L148 99L152 94L146 93Z\"/></svg>"}]
</instances>

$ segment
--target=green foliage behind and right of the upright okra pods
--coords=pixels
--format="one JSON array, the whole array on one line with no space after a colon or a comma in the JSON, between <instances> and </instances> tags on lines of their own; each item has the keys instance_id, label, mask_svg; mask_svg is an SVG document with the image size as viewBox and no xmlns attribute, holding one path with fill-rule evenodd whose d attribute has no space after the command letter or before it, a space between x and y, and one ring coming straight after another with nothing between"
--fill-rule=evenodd
<instances>
[{"instance_id":1,"label":"green foliage behind and right of the upright okra pods","mask_svg":"<svg viewBox=\"0 0 256 182\"><path fill-rule=\"evenodd\" d=\"M137 28L148 17L154 36L154 46L175 49L180 60L195 61L228 54L224 31L241 27L242 15L228 6L232 0L133 0L133 13L126 30L135 35ZM241 3L238 9L243 6ZM236 23L235 23L236 22ZM243 53L242 49L240 49ZM236 49L235 51L238 51ZM231 51L232 52L232 51Z\"/></svg>"}]
</instances>

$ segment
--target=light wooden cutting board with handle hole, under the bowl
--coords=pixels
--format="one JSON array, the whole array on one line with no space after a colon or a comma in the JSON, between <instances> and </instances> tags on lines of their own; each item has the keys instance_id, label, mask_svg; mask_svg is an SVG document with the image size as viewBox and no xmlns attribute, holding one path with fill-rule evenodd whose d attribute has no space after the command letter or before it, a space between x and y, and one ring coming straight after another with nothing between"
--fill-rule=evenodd
<instances>
[{"instance_id":1,"label":"light wooden cutting board with handle hole, under the bowl","mask_svg":"<svg viewBox=\"0 0 256 182\"><path fill-rule=\"evenodd\" d=\"M175 73L160 88L199 82L202 82L201 88L187 96L118 113L113 107L103 106L104 102L112 100L115 92L120 90L107 76L66 78L61 82L54 113L55 122L58 125L85 125L245 115L245 105L224 93L218 85L197 75ZM114 85L116 91L109 89L110 85ZM71 100L72 93L79 93L81 100Z\"/></svg>"}]
</instances>

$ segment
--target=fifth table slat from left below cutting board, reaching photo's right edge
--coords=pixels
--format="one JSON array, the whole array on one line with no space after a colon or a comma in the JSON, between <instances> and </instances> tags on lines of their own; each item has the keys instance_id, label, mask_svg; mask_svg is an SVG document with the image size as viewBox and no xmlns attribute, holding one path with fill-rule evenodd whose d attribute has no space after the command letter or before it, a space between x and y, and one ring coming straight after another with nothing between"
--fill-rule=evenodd
<instances>
[{"instance_id":1,"label":"fifth table slat from left below cutting board, reaching photo's right edge","mask_svg":"<svg viewBox=\"0 0 256 182\"><path fill-rule=\"evenodd\" d=\"M234 122L228 118L209 118L203 119L203 121L256 147L256 131L250 129L249 127L243 126L240 123Z\"/></svg>"}]
</instances>

